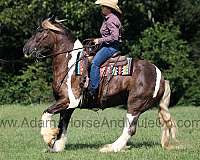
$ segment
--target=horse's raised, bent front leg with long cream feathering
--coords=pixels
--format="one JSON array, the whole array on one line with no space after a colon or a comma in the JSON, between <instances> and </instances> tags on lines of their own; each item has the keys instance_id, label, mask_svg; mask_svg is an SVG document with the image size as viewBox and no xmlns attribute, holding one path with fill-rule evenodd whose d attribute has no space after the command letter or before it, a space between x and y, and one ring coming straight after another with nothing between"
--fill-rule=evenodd
<instances>
[{"instance_id":1,"label":"horse's raised, bent front leg with long cream feathering","mask_svg":"<svg viewBox=\"0 0 200 160\"><path fill-rule=\"evenodd\" d=\"M56 140L59 138L58 136L61 136L62 132L66 130L64 126L67 127L68 125L67 121L69 120L66 120L65 122L63 117L68 117L67 115L69 114L70 119L71 114L73 113L71 110L67 110L68 106L68 100L60 99L54 105L45 110L42 115L41 135L43 136L45 143L48 144L49 148L51 149L54 147ZM55 128L55 123L52 121L52 116L57 113L61 113L60 123L58 128ZM67 123L67 125L65 125L65 123Z\"/></svg>"}]
</instances>

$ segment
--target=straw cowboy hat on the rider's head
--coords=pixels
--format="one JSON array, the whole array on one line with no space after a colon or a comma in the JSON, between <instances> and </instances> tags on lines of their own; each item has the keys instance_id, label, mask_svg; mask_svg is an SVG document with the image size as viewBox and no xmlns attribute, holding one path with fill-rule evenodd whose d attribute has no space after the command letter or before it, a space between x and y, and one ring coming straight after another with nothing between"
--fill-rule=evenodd
<instances>
[{"instance_id":1,"label":"straw cowboy hat on the rider's head","mask_svg":"<svg viewBox=\"0 0 200 160\"><path fill-rule=\"evenodd\" d=\"M118 0L97 0L95 2L95 4L100 4L102 6L110 7L112 9L114 9L115 11L119 12L120 14L122 14L121 9L117 5L118 4Z\"/></svg>"}]
</instances>

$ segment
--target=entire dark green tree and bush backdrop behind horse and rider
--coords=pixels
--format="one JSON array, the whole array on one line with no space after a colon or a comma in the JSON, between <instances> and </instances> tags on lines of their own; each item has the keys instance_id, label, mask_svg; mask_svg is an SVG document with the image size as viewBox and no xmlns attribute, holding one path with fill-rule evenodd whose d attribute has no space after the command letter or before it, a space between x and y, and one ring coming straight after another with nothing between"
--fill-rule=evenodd
<instances>
[{"instance_id":1,"label":"entire dark green tree and bush backdrop behind horse and rider","mask_svg":"<svg viewBox=\"0 0 200 160\"><path fill-rule=\"evenodd\" d=\"M25 103L39 102L40 100L31 96L37 96L37 89L40 90L39 95L42 95L41 92L46 95L51 74L48 72L48 76L37 79L31 75L33 70L40 73L46 68L35 66L33 69L35 64L24 61L22 48L25 41L40 21L51 13L56 14L59 19L66 19L64 25L80 40L99 37L103 18L100 7L94 5L94 2L95 0L57 0L56 3L53 0L0 1L0 58L21 61L12 65L4 65L4 62L0 64L3 68L0 71L1 103L24 103L25 99ZM199 104L199 73L194 68L200 68L200 0L128 0L119 1L119 6L123 11L122 53L133 51L133 56L141 56L156 63L172 83L174 103L181 99L179 103ZM172 22L180 29L174 27ZM45 62L41 66L46 66ZM26 84L30 81L28 76L35 79ZM189 88L190 81L192 83ZM41 82L47 84L44 85L44 90L39 89L39 86L43 87ZM30 94L33 86L37 89ZM20 94L23 98L19 98ZM39 96L38 99L43 98Z\"/></svg>"}]
</instances>

